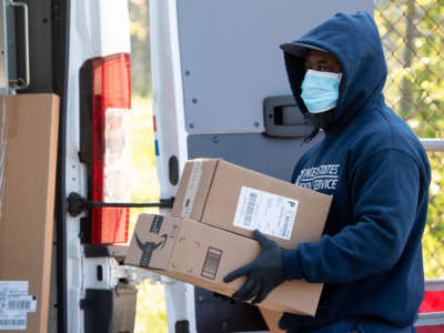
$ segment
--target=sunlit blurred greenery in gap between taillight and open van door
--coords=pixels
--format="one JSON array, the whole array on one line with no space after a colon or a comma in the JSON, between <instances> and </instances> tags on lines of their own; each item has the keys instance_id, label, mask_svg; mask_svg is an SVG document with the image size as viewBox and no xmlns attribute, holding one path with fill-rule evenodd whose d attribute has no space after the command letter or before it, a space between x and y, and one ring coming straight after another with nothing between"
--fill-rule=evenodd
<instances>
[{"instance_id":1,"label":"sunlit blurred greenery in gap between taillight and open van door","mask_svg":"<svg viewBox=\"0 0 444 333\"><path fill-rule=\"evenodd\" d=\"M149 0L130 0L131 19L131 201L159 202L151 108ZM138 215L157 209L131 209L130 236ZM163 286L145 281L139 286L135 333L168 332Z\"/></svg>"}]
</instances>

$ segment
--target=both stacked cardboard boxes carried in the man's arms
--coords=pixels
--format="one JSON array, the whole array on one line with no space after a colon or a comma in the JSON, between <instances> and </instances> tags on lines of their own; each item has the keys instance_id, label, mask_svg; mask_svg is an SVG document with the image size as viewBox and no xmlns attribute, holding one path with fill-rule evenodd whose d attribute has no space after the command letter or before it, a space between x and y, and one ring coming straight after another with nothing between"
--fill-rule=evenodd
<instances>
[{"instance_id":1,"label":"both stacked cardboard boxes carried in the man's arms","mask_svg":"<svg viewBox=\"0 0 444 333\"><path fill-rule=\"evenodd\" d=\"M282 248L319 241L331 196L222 160L189 161L172 216L142 214L127 263L231 295L245 278L224 283L231 271L260 254L259 229ZM261 306L314 315L322 284L286 281Z\"/></svg>"}]
</instances>

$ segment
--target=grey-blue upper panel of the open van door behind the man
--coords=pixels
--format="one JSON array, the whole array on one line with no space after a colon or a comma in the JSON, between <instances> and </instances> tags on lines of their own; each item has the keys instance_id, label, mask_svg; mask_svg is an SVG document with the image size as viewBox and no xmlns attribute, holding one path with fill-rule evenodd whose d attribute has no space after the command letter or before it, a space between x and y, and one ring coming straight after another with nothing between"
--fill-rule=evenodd
<instances>
[{"instance_id":1,"label":"grey-blue upper panel of the open van door behind the man","mask_svg":"<svg viewBox=\"0 0 444 333\"><path fill-rule=\"evenodd\" d=\"M373 12L372 0L178 2L186 130L263 132L263 100L291 94L280 44L339 11Z\"/></svg>"}]
</instances>

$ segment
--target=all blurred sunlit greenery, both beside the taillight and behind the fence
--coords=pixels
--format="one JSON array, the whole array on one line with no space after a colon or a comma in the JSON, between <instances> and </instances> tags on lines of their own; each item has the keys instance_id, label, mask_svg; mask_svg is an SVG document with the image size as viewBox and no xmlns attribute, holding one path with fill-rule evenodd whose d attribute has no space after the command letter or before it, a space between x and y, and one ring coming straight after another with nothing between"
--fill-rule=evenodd
<instances>
[{"instance_id":1,"label":"all blurred sunlit greenery, both beside the taillight and behind the fence","mask_svg":"<svg viewBox=\"0 0 444 333\"><path fill-rule=\"evenodd\" d=\"M131 18L131 148L133 202L159 200L151 108L149 0L129 0ZM420 138L443 138L444 1L375 0L374 18L389 65L386 103ZM295 37L296 38L296 37ZM426 279L444 279L444 157L428 153L433 169L431 203L423 239ZM141 212L132 209L131 230ZM139 287L137 333L168 332L163 287Z\"/></svg>"}]
</instances>

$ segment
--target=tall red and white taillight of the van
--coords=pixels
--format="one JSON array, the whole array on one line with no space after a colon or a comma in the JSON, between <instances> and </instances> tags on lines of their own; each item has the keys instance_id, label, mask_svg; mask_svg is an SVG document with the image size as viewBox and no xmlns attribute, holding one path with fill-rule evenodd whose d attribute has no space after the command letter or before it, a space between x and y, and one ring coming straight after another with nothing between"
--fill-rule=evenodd
<instances>
[{"instance_id":1,"label":"tall red and white taillight of the van","mask_svg":"<svg viewBox=\"0 0 444 333\"><path fill-rule=\"evenodd\" d=\"M92 200L129 201L124 119L131 109L130 56L92 60ZM130 211L92 209L92 243L125 243Z\"/></svg>"}]
</instances>

